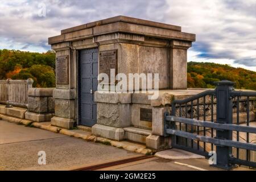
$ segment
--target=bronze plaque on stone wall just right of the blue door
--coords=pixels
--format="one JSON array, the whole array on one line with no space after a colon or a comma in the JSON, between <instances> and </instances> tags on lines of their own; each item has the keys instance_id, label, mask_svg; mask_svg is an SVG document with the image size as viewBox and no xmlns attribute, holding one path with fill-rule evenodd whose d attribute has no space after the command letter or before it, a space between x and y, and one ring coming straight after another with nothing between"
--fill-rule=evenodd
<instances>
[{"instance_id":1,"label":"bronze plaque on stone wall just right of the blue door","mask_svg":"<svg viewBox=\"0 0 256 182\"><path fill-rule=\"evenodd\" d=\"M115 69L117 75L117 50L100 51L100 73L106 73L110 81L110 69Z\"/></svg>"}]
</instances>

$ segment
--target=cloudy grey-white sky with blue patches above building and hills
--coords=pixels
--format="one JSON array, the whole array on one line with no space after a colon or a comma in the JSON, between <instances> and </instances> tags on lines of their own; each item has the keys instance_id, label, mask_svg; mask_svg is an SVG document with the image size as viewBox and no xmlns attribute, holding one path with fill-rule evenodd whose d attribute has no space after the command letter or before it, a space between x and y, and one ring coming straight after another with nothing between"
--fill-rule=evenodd
<instances>
[{"instance_id":1,"label":"cloudy grey-white sky with blue patches above building and hills","mask_svg":"<svg viewBox=\"0 0 256 182\"><path fill-rule=\"evenodd\" d=\"M48 37L61 29L117 15L175 24L196 34L189 61L256 71L255 0L1 0L0 49L45 52L51 49Z\"/></svg>"}]
</instances>

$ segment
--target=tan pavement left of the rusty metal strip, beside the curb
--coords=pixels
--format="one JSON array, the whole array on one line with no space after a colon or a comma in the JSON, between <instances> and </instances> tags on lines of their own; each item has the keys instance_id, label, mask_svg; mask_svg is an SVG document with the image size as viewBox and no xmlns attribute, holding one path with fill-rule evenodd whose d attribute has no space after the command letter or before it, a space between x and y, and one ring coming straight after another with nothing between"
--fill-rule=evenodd
<instances>
[{"instance_id":1,"label":"tan pavement left of the rusty metal strip, beside the curb","mask_svg":"<svg viewBox=\"0 0 256 182\"><path fill-rule=\"evenodd\" d=\"M38 164L38 151L46 151L46 165ZM0 170L58 170L135 155L101 143L5 121L0 121L0 154Z\"/></svg>"}]
</instances>

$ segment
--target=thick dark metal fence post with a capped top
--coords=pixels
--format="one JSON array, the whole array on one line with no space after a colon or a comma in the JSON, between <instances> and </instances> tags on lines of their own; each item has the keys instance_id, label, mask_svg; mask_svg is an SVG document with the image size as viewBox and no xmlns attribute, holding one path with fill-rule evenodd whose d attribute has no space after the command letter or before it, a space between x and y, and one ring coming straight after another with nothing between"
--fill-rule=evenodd
<instances>
[{"instance_id":1,"label":"thick dark metal fence post with a capped top","mask_svg":"<svg viewBox=\"0 0 256 182\"><path fill-rule=\"evenodd\" d=\"M216 82L217 98L217 123L232 124L232 97L230 92L234 89L234 82L222 80ZM232 131L216 130L216 138L232 140ZM232 147L216 146L217 164L216 167L230 169L229 158L232 155Z\"/></svg>"}]
</instances>

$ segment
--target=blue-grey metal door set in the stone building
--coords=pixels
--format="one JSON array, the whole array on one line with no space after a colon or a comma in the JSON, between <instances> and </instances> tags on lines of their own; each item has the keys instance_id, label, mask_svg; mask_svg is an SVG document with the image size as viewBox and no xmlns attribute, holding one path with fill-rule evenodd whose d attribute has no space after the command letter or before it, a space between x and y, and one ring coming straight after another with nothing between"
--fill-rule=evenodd
<instances>
[{"instance_id":1,"label":"blue-grey metal door set in the stone building","mask_svg":"<svg viewBox=\"0 0 256 182\"><path fill-rule=\"evenodd\" d=\"M97 121L94 92L97 90L98 48L80 51L80 123L93 126Z\"/></svg>"}]
</instances>

